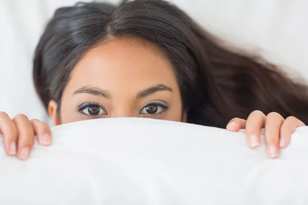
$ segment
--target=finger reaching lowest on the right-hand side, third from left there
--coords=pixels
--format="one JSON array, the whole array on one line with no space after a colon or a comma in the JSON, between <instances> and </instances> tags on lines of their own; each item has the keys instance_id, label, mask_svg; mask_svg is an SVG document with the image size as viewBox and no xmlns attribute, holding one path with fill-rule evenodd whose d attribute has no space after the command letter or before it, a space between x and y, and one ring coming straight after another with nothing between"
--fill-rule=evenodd
<instances>
[{"instance_id":1,"label":"finger reaching lowest on the right-hand side, third from left there","mask_svg":"<svg viewBox=\"0 0 308 205\"><path fill-rule=\"evenodd\" d=\"M271 158L279 155L280 128L283 122L284 118L276 112L271 112L266 116L264 137L267 155Z\"/></svg>"}]
</instances>

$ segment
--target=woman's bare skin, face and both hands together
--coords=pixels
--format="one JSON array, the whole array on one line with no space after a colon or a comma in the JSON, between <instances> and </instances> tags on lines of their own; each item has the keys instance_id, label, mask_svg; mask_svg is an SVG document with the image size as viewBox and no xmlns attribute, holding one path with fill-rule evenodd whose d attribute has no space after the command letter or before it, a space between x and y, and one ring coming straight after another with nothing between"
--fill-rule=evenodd
<instances>
[{"instance_id":1,"label":"woman's bare skin, face and both hands together","mask_svg":"<svg viewBox=\"0 0 308 205\"><path fill-rule=\"evenodd\" d=\"M121 59L121 60L119 60ZM93 104L94 103L94 104ZM71 73L63 91L60 113L51 100L48 113L54 125L103 117L150 117L186 122L186 111L175 73L160 50L140 39L109 39L90 49ZM82 106L82 108L81 108ZM92 115L91 115L92 114ZM95 115L93 115L95 114ZM305 126L295 117L284 119L278 113L265 116L254 111L247 119L234 118L226 129L245 129L247 145L260 145L260 130L265 128L267 155L276 158L297 127ZM13 119L0 112L0 132L8 155L28 159L34 144L49 146L50 128L25 115Z\"/></svg>"}]
</instances>

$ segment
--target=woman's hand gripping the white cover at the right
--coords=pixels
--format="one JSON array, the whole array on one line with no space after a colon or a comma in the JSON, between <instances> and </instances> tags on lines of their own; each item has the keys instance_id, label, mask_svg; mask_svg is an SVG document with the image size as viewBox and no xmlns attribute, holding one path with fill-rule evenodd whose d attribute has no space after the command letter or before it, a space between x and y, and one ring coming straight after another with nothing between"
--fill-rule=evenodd
<instances>
[{"instance_id":1,"label":"woman's hand gripping the white cover at the right","mask_svg":"<svg viewBox=\"0 0 308 205\"><path fill-rule=\"evenodd\" d=\"M238 132L245 129L247 144L251 148L260 145L260 130L265 128L264 137L267 155L276 158L280 148L288 146L291 134L298 127L305 124L296 117L290 116L284 119L280 114L271 112L267 116L261 111L252 112L247 120L233 118L227 125L227 130Z\"/></svg>"}]
</instances>

